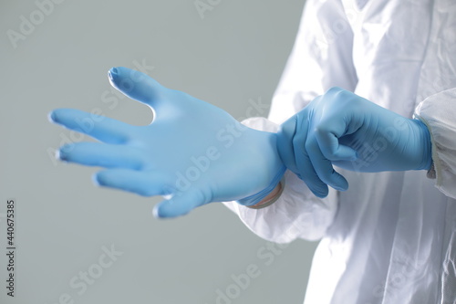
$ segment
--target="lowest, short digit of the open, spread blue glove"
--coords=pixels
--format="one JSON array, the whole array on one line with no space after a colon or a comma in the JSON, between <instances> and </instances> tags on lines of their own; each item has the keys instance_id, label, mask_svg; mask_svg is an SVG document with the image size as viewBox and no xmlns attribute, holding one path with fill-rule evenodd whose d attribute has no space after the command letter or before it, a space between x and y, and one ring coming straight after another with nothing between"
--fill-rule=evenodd
<instances>
[{"instance_id":1,"label":"lowest, short digit of the open, spread blue glove","mask_svg":"<svg viewBox=\"0 0 456 304\"><path fill-rule=\"evenodd\" d=\"M153 215L159 218L170 218L187 215L194 208L209 203L199 189L174 194L170 200L162 201L153 208Z\"/></svg>"}]
</instances>

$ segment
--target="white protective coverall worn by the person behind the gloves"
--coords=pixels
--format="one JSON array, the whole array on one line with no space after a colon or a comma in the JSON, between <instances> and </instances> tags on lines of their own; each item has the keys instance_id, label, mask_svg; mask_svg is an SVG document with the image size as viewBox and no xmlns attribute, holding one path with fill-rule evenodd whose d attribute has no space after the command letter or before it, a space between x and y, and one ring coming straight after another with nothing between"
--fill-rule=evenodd
<instances>
[{"instance_id":1,"label":"white protective coverall worn by the person behind the gloves","mask_svg":"<svg viewBox=\"0 0 456 304\"><path fill-rule=\"evenodd\" d=\"M456 0L307 0L275 92L277 124L333 86L411 118L432 136L425 171L354 173L318 199L294 173L264 209L224 203L278 243L321 238L306 304L456 303Z\"/></svg>"}]
</instances>

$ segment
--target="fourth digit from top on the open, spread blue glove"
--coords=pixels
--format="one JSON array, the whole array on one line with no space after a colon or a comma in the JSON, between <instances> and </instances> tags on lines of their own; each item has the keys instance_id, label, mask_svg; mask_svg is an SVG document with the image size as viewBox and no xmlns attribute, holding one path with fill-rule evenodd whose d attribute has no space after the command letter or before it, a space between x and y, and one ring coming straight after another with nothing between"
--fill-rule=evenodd
<instances>
[{"instance_id":1,"label":"fourth digit from top on the open, spread blue glove","mask_svg":"<svg viewBox=\"0 0 456 304\"><path fill-rule=\"evenodd\" d=\"M140 194L142 196L168 195L171 187L166 183L163 174L144 173L128 169L109 169L93 175L94 183L119 190Z\"/></svg>"}]
</instances>

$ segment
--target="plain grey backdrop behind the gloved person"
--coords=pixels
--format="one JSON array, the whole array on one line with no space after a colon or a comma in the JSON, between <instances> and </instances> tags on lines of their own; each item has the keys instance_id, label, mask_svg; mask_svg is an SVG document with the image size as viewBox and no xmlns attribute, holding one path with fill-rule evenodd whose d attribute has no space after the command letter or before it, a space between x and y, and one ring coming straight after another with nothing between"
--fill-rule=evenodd
<instances>
[{"instance_id":1,"label":"plain grey backdrop behind the gloved person","mask_svg":"<svg viewBox=\"0 0 456 304\"><path fill-rule=\"evenodd\" d=\"M261 275L231 303L301 303L315 243L296 241L266 259L258 255L266 242L222 204L156 220L151 209L160 197L100 189L90 179L97 168L55 162L51 152L71 134L49 123L47 112L98 108L131 124L149 123L150 110L114 95L107 79L113 66L144 62L163 85L243 117L248 100L271 100L303 5L221 1L202 18L193 0L66 0L15 48L7 30L20 32L20 16L30 20L38 8L2 0L0 216L6 199L15 198L18 249L11 299L0 217L0 302L54 304L67 293L75 303L210 304L217 289L233 285L233 274L255 265ZM79 295L69 282L97 268L103 246L123 255Z\"/></svg>"}]
</instances>

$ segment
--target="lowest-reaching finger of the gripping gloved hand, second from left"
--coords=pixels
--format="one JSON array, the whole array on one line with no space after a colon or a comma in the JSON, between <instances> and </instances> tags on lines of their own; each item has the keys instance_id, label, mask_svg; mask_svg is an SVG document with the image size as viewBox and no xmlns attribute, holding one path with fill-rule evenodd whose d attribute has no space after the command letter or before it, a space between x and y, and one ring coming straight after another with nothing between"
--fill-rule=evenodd
<instances>
[{"instance_id":1,"label":"lowest-reaching finger of the gripping gloved hand, second from left","mask_svg":"<svg viewBox=\"0 0 456 304\"><path fill-rule=\"evenodd\" d=\"M306 183L313 194L316 194L317 197L325 197L328 194L327 185L316 174L316 170L306 152L308 123L307 121L304 122L293 139L297 175Z\"/></svg>"}]
</instances>

